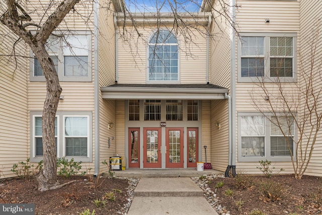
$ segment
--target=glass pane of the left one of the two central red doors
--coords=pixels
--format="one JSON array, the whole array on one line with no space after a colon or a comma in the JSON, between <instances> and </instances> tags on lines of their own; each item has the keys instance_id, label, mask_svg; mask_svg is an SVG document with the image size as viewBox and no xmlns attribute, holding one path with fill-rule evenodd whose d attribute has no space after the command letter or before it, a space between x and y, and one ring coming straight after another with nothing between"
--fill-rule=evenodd
<instances>
[{"instance_id":1,"label":"glass pane of the left one of the two central red doors","mask_svg":"<svg viewBox=\"0 0 322 215\"><path fill-rule=\"evenodd\" d=\"M157 150L158 150L158 132L157 130L146 131L146 162L157 163Z\"/></svg>"}]
</instances>

